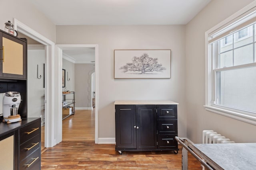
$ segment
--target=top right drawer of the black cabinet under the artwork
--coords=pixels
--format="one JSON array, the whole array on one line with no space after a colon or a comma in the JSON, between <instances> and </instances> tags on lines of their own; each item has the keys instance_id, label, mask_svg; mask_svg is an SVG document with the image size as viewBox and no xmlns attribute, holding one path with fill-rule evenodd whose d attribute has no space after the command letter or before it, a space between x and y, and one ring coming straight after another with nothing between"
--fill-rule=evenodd
<instances>
[{"instance_id":1,"label":"top right drawer of the black cabinet under the artwork","mask_svg":"<svg viewBox=\"0 0 256 170\"><path fill-rule=\"evenodd\" d=\"M158 105L158 119L177 119L177 105Z\"/></svg>"}]
</instances>

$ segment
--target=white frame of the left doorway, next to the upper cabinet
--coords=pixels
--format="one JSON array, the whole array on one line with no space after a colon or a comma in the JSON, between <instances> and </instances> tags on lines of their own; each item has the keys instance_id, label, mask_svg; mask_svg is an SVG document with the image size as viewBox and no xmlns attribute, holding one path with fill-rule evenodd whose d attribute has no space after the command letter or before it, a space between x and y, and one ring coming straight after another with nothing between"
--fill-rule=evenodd
<instances>
[{"instance_id":1,"label":"white frame of the left doorway, next to the upper cabinet","mask_svg":"<svg viewBox=\"0 0 256 170\"><path fill-rule=\"evenodd\" d=\"M45 147L56 145L56 114L55 113L55 43L34 31L16 18L13 18L14 29L24 35L45 45L46 49L46 67L45 67ZM55 129L55 130L54 130Z\"/></svg>"}]
</instances>

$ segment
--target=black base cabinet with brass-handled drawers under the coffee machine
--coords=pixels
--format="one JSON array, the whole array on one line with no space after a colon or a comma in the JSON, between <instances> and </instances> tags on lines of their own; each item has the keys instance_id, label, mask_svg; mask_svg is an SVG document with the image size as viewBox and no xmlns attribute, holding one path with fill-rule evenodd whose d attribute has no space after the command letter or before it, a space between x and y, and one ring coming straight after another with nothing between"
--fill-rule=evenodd
<instances>
[{"instance_id":1,"label":"black base cabinet with brass-handled drawers under the coffee machine","mask_svg":"<svg viewBox=\"0 0 256 170\"><path fill-rule=\"evenodd\" d=\"M0 152L1 170L40 170L41 118L0 122Z\"/></svg>"}]
</instances>

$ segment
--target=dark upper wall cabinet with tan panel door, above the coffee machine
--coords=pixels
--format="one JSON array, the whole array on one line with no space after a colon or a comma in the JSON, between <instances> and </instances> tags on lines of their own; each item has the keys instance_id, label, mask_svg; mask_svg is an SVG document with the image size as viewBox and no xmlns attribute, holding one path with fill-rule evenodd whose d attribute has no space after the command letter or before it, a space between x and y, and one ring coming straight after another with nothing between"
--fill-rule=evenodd
<instances>
[{"instance_id":1,"label":"dark upper wall cabinet with tan panel door, above the coffee machine","mask_svg":"<svg viewBox=\"0 0 256 170\"><path fill-rule=\"evenodd\" d=\"M0 30L0 79L26 80L27 42Z\"/></svg>"}]
</instances>

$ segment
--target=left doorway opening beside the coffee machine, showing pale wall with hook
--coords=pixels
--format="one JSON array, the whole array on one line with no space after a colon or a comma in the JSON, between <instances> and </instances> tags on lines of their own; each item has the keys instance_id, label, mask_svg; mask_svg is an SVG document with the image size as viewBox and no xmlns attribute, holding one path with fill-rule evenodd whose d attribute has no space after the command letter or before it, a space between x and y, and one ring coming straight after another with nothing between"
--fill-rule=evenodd
<instances>
[{"instance_id":1,"label":"left doorway opening beside the coffee machine, showing pale wall with hook","mask_svg":"<svg viewBox=\"0 0 256 170\"><path fill-rule=\"evenodd\" d=\"M24 37L23 35L19 36ZM28 39L28 38L27 38ZM27 93L28 117L41 117L41 150L44 149L44 120L45 120L45 46L31 43L28 39L27 55ZM36 85L35 85L36 84Z\"/></svg>"}]
</instances>

